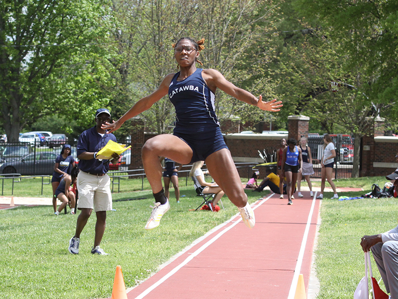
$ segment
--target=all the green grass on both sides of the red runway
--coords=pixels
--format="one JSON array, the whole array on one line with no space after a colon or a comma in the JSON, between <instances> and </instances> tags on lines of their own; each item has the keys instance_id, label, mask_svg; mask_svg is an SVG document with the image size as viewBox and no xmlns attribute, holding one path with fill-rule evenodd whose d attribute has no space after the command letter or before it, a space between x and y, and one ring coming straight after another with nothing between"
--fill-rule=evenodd
<instances>
[{"instance_id":1,"label":"all the green grass on both sides of the red runway","mask_svg":"<svg viewBox=\"0 0 398 299\"><path fill-rule=\"evenodd\" d=\"M40 189L40 182L33 179L24 181L17 183L25 189L18 191L21 192L19 194L36 197L37 190L33 188L38 185ZM335 183L337 187L362 187L364 191L339 194L360 196L368 192L373 183L382 187L385 181L384 177L367 177L340 179ZM0 211L1 298L110 297L117 265L122 266L126 287L134 286L195 239L236 214L236 207L226 198L223 200L225 211L189 211L201 201L192 183L188 183L186 187L185 178L180 179L181 195L186 195L180 204L175 203L171 189L171 209L162 219L161 226L152 231L143 228L150 213L149 205L153 202L151 191L114 193L113 208L116 211L107 214L102 242L102 247L110 255L103 257L90 254L94 241L94 215L82 233L80 254L74 256L68 253L67 247L74 234L76 215L55 217L50 206ZM305 185L304 182L302 184ZM51 196L51 186L47 188L45 194ZM141 180L126 179L123 188L140 190ZM247 194L250 202L259 195L251 191ZM325 198L331 195L331 192L325 192ZM138 197L147 199L115 201ZM397 199L394 198L322 201L322 222L315 251L316 274L320 282L318 299L352 299L364 275L364 258L359 245L361 237L392 229L397 225L397 216ZM379 280L374 261L373 270ZM381 285L384 288L383 283Z\"/></svg>"}]
</instances>

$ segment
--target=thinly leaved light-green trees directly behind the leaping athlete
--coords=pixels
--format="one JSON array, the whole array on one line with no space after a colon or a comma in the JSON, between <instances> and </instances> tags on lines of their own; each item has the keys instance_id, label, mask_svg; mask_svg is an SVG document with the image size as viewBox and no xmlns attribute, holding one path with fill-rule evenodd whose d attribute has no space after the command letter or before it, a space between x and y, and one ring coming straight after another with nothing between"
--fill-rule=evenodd
<instances>
[{"instance_id":1,"label":"thinly leaved light-green trees directly behind the leaping athlete","mask_svg":"<svg viewBox=\"0 0 398 299\"><path fill-rule=\"evenodd\" d=\"M271 26L267 18L275 9L269 2L152 0L129 2L127 6L124 1L114 0L117 28L113 36L117 47L112 51L117 55L112 56L111 63L120 74L116 79L120 93L114 103L129 103L128 109L155 90L168 73L178 71L171 45L186 36L205 38L205 49L199 56L204 68L215 68L236 85L254 94L263 94L265 99L273 98L269 81L259 73L268 54L266 48L258 45L264 40L261 36L265 28ZM243 65L252 65L252 70L246 71ZM266 88L269 92L264 94ZM264 113L255 107L248 107L221 92L217 92L216 97L220 122L234 114L243 116L244 120L264 120ZM121 116L122 111L119 113ZM175 120L174 107L165 97L141 117L153 131L169 132Z\"/></svg>"}]
</instances>

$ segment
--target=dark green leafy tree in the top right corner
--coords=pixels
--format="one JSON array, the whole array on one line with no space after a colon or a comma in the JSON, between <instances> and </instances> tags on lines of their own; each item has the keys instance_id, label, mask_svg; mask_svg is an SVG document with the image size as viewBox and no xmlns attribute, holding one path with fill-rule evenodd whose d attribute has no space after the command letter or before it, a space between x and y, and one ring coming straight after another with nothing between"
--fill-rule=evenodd
<instances>
[{"instance_id":1,"label":"dark green leafy tree in the top right corner","mask_svg":"<svg viewBox=\"0 0 398 299\"><path fill-rule=\"evenodd\" d=\"M398 95L398 2L388 0L294 0L302 15L315 25L327 27L330 39L338 41L341 55L347 56L346 71L358 69L355 86L373 104L380 116L397 120ZM389 109L384 109L389 107Z\"/></svg>"}]
</instances>

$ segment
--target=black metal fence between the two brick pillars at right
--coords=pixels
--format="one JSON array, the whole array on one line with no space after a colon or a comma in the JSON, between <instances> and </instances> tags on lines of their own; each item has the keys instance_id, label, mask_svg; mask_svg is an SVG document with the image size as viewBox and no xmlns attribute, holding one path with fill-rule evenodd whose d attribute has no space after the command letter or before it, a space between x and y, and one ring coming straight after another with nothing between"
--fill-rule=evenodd
<instances>
[{"instance_id":1,"label":"black metal fence between the two brick pillars at right","mask_svg":"<svg viewBox=\"0 0 398 299\"><path fill-rule=\"evenodd\" d=\"M334 158L333 177L350 178L352 163L354 160L354 140L345 135L332 136L336 157ZM320 160L323 154L323 136L311 136L308 138L308 146L311 149L312 164L315 173L311 177L321 177Z\"/></svg>"}]
</instances>

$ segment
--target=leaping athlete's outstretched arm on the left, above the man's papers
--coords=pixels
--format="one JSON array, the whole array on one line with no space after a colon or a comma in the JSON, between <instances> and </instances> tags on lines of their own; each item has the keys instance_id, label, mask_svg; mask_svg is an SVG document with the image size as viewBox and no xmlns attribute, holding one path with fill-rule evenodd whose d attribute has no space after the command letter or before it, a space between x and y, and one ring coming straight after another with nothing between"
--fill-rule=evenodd
<instances>
[{"instance_id":1,"label":"leaping athlete's outstretched arm on the left, above the man's papers","mask_svg":"<svg viewBox=\"0 0 398 299\"><path fill-rule=\"evenodd\" d=\"M137 103L133 105L133 107L130 108L129 111L127 111L121 118L119 118L117 121L113 121L113 123L109 124L106 123L105 125L102 125L101 128L108 130L107 133L112 133L113 131L116 131L121 127L121 125L124 124L125 121L133 118L134 116L148 110L149 108L152 107L153 104L155 104L157 101L159 101L161 98L163 98L165 95L167 95L168 90L169 90L169 85L171 83L171 80L173 79L174 74L168 74L160 84L160 86L149 96L143 97L140 99Z\"/></svg>"}]
</instances>

